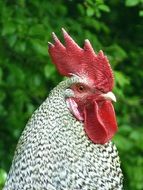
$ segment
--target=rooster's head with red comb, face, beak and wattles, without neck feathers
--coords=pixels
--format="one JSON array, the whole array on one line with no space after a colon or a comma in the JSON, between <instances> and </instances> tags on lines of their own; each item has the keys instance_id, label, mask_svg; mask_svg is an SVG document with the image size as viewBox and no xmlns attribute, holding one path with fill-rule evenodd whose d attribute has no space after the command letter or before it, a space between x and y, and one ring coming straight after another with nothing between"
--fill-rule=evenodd
<instances>
[{"instance_id":1,"label":"rooster's head with red comb, face, beak and wattles, without neck feathers","mask_svg":"<svg viewBox=\"0 0 143 190\"><path fill-rule=\"evenodd\" d=\"M105 144L117 131L112 101L113 72L102 51L96 54L85 40L84 48L64 30L63 45L53 33L54 44L49 43L49 54L59 73L79 80L71 84L74 96L66 99L67 106L77 120L84 123L87 136L96 144Z\"/></svg>"}]
</instances>

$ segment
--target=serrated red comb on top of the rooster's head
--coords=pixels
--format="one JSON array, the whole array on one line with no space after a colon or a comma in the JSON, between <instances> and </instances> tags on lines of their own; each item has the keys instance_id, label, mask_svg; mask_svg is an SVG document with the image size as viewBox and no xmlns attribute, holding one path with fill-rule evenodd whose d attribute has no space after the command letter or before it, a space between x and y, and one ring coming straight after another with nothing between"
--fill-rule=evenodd
<instances>
[{"instance_id":1,"label":"serrated red comb on top of the rooster's head","mask_svg":"<svg viewBox=\"0 0 143 190\"><path fill-rule=\"evenodd\" d=\"M87 75L96 87L104 91L113 88L114 77L107 57L102 51L96 54L89 42L85 40L84 48L77 43L64 30L65 46L60 42L55 33L52 33L54 44L49 43L49 54L61 75L79 76Z\"/></svg>"}]
</instances>

